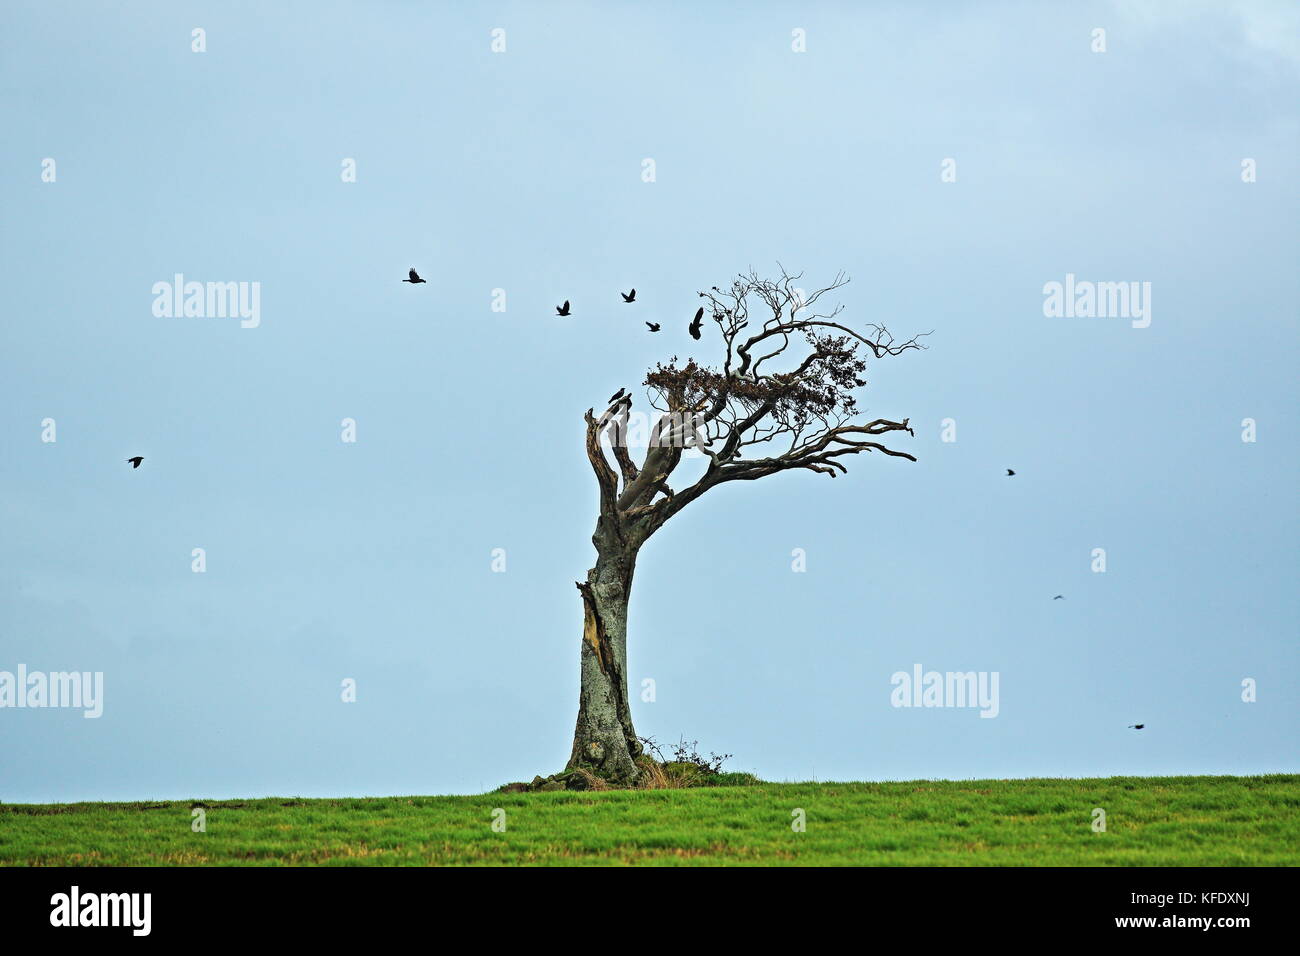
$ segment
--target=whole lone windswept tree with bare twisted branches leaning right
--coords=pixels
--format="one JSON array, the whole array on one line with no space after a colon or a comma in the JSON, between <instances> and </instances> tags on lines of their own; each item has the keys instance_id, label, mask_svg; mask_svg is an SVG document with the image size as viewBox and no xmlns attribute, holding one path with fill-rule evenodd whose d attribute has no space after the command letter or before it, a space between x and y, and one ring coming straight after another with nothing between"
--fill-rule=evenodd
<instances>
[{"instance_id":1,"label":"whole lone windswept tree with bare twisted branches leaning right","mask_svg":"<svg viewBox=\"0 0 1300 956\"><path fill-rule=\"evenodd\" d=\"M640 467L627 441L630 395L599 418L592 408L585 414L586 457L599 485L601 512L592 536L595 566L577 583L584 607L581 689L569 769L584 767L623 786L640 775L641 744L628 702L628 598L641 548L668 519L729 481L797 468L835 477L848 471L841 459L862 451L916 460L875 441L888 432L913 434L907 419L852 420L858 415L854 389L866 385L867 354L883 359L923 349L919 337L897 342L883 325L855 332L836 321L840 304L827 313L814 311L848 278L841 273L803 297L794 285L801 276L784 268L775 280L750 272L725 291L714 286L699 293L725 345L723 365L694 359L679 365L673 356L647 372L644 384L658 418ZM786 371L768 371L777 364ZM698 450L703 473L673 490L668 480L686 449Z\"/></svg>"}]
</instances>

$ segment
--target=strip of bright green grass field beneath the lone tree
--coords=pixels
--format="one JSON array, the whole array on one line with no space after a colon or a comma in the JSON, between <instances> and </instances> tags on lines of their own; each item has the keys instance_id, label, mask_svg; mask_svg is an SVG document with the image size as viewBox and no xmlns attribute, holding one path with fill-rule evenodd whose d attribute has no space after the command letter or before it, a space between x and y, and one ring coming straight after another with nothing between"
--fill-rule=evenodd
<instances>
[{"instance_id":1,"label":"strip of bright green grass field beneath the lone tree","mask_svg":"<svg viewBox=\"0 0 1300 956\"><path fill-rule=\"evenodd\" d=\"M0 805L0 865L1295 865L1300 775ZM1106 812L1093 832L1092 810ZM491 827L504 810L504 832ZM802 809L806 831L794 832Z\"/></svg>"}]
</instances>

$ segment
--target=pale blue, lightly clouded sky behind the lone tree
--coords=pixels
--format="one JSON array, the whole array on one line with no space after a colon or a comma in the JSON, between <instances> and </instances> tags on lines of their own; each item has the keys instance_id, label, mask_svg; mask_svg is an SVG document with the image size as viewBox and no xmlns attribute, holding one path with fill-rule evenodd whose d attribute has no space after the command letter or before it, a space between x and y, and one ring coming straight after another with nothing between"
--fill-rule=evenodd
<instances>
[{"instance_id":1,"label":"pale blue, lightly clouded sky behind the lone tree","mask_svg":"<svg viewBox=\"0 0 1300 956\"><path fill-rule=\"evenodd\" d=\"M1297 770L1294 4L0 18L0 671L103 674L98 718L0 708L0 800L559 770L582 412L718 363L697 291L779 263L932 333L859 397L918 460L651 538L640 734L770 780ZM256 324L156 315L178 273ZM1149 325L1046 315L1066 276ZM997 715L893 706L915 666L997 674Z\"/></svg>"}]
</instances>

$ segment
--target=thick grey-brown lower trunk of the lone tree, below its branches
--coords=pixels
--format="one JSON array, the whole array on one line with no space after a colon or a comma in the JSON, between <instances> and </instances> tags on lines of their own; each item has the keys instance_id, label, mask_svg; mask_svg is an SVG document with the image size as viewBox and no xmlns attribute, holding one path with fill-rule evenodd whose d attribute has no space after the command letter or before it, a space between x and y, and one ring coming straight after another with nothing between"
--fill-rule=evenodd
<instances>
[{"instance_id":1,"label":"thick grey-brown lower trunk of the lone tree, below its branches","mask_svg":"<svg viewBox=\"0 0 1300 956\"><path fill-rule=\"evenodd\" d=\"M604 523L601 523L602 527ZM619 786L636 782L641 744L628 708L628 597L636 550L597 529L597 562L582 594L582 683L569 769L585 767Z\"/></svg>"}]
</instances>

